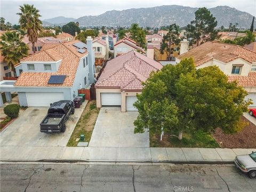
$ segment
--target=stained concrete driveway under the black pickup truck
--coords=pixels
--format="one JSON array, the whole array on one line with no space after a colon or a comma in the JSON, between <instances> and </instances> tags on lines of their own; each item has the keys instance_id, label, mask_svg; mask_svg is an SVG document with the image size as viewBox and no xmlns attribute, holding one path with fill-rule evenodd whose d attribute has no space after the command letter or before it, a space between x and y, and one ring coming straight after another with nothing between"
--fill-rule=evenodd
<instances>
[{"instance_id":1,"label":"stained concrete driveway under the black pickup truck","mask_svg":"<svg viewBox=\"0 0 256 192\"><path fill-rule=\"evenodd\" d=\"M66 146L83 109L76 109L75 114L66 122L65 133L41 133L39 124L47 114L48 107L29 107L1 134L3 146Z\"/></svg>"}]
</instances>

